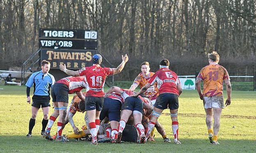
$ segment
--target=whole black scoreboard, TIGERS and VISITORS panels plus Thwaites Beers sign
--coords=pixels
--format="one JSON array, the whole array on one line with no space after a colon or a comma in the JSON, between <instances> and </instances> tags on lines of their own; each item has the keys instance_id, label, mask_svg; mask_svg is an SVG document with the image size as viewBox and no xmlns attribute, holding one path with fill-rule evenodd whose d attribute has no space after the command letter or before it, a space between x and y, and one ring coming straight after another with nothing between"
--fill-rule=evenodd
<instances>
[{"instance_id":1,"label":"whole black scoreboard, TIGERS and VISITORS panels plus Thwaites Beers sign","mask_svg":"<svg viewBox=\"0 0 256 153\"><path fill-rule=\"evenodd\" d=\"M57 44L56 44L57 43ZM66 63L78 70L92 65L92 56L98 52L98 32L83 29L39 29L41 61L50 61L52 69Z\"/></svg>"}]
</instances>

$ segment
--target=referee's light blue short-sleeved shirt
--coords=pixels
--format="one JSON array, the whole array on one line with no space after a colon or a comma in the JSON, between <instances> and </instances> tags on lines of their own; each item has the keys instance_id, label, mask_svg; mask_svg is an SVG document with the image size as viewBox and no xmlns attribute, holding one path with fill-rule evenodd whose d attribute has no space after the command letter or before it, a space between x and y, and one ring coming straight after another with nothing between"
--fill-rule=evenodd
<instances>
[{"instance_id":1,"label":"referee's light blue short-sleeved shirt","mask_svg":"<svg viewBox=\"0 0 256 153\"><path fill-rule=\"evenodd\" d=\"M52 74L44 74L41 71L34 72L27 80L26 86L31 88L34 85L34 94L38 96L50 95L50 87L55 83L55 78Z\"/></svg>"}]
</instances>

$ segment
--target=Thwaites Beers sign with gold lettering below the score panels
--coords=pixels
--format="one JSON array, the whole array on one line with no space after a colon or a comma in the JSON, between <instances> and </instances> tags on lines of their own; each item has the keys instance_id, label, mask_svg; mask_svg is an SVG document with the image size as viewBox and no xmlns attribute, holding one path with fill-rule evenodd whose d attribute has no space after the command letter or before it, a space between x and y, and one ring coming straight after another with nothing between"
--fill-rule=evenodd
<instances>
[{"instance_id":1,"label":"Thwaites Beers sign with gold lettering below the score panels","mask_svg":"<svg viewBox=\"0 0 256 153\"><path fill-rule=\"evenodd\" d=\"M96 50L41 50L41 60L47 60L51 63L51 68L58 69L60 64L66 64L68 69L81 69L82 67L92 65L92 56Z\"/></svg>"}]
</instances>

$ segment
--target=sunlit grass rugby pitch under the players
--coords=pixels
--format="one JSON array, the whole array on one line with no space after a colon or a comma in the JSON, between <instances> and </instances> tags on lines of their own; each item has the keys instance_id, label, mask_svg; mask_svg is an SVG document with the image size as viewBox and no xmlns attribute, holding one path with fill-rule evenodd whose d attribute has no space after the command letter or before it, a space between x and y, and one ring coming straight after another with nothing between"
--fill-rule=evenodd
<instances>
[{"instance_id":1,"label":"sunlit grass rugby pitch under the players","mask_svg":"<svg viewBox=\"0 0 256 153\"><path fill-rule=\"evenodd\" d=\"M210 145L207 138L205 112L196 90L184 90L179 98L179 139L181 145L164 143L155 132L155 142L146 144L98 144L71 139L70 142L48 142L40 136L42 111L39 110L32 137L26 138L31 106L25 98L25 86L0 86L0 152L256 152L256 92L233 91L231 106L222 111L218 141ZM107 89L107 88L106 88ZM31 90L32 91L32 90ZM225 97L226 94L224 94ZM70 95L70 98L73 95ZM50 110L50 114L53 109ZM85 124L84 114L77 113L77 127ZM159 118L172 140L168 110ZM52 133L57 130L54 124ZM156 131L156 130L155 130ZM63 134L72 133L68 124ZM173 140L172 140L173 142Z\"/></svg>"}]
</instances>

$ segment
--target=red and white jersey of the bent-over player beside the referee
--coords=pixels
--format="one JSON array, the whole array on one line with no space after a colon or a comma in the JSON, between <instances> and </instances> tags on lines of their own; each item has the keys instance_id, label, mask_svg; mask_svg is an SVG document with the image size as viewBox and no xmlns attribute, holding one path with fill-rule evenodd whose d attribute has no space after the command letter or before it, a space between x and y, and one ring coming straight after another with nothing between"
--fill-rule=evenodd
<instances>
[{"instance_id":1,"label":"red and white jersey of the bent-over player beside the referee","mask_svg":"<svg viewBox=\"0 0 256 153\"><path fill-rule=\"evenodd\" d=\"M67 85L69 87L69 94L80 92L82 89L86 88L87 85L85 76L68 76L60 79L56 83L63 83Z\"/></svg>"}]
</instances>

